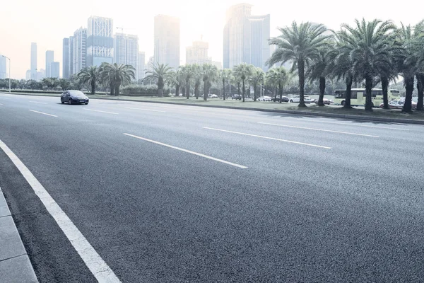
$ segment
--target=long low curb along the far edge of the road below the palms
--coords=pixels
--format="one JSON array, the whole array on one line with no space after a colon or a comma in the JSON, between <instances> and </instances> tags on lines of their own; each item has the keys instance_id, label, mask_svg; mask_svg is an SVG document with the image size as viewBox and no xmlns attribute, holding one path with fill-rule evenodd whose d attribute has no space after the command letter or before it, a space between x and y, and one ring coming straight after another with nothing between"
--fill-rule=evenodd
<instances>
[{"instance_id":1,"label":"long low curb along the far edge of the road below the palms","mask_svg":"<svg viewBox=\"0 0 424 283\"><path fill-rule=\"evenodd\" d=\"M11 94L14 94L14 93L11 93ZM28 93L15 93L15 94L21 95L21 96L37 96L36 94L28 94ZM59 96L53 96L53 97L59 97ZM385 117L370 117L370 116L358 116L358 115L343 115L343 114L336 114L336 113L320 113L320 112L305 112L305 111L295 111L295 110L276 110L276 109L249 108L249 107L233 107L233 106L224 106L224 105L198 105L198 104L194 104L194 103L173 103L173 102L167 102L167 101L149 101L149 100L135 100L135 99L116 99L116 98L90 98L90 99L118 100L118 101L158 103L158 104L173 104L173 105L186 105L186 106L223 108L223 109L235 109L235 110L251 110L251 111L290 114L290 115L302 115L302 116L314 116L314 117L333 117L333 118L370 121L370 122L390 122L390 123L424 125L424 120L385 118Z\"/></svg>"}]
</instances>

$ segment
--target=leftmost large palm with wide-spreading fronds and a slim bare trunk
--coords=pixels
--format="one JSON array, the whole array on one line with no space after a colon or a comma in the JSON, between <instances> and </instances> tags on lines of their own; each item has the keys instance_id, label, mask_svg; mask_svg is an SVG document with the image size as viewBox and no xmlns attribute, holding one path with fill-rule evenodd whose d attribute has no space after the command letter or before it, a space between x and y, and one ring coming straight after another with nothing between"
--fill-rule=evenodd
<instances>
[{"instance_id":1,"label":"leftmost large palm with wide-spreading fronds and a slim bare trunk","mask_svg":"<svg viewBox=\"0 0 424 283\"><path fill-rule=\"evenodd\" d=\"M280 62L293 62L293 69L298 68L300 107L305 105L305 66L309 66L312 59L318 56L318 50L326 45L326 40L331 35L324 35L324 25L312 23L292 23L291 27L278 28L281 35L272 37L270 45L276 45L277 49L266 62L270 67Z\"/></svg>"}]
</instances>

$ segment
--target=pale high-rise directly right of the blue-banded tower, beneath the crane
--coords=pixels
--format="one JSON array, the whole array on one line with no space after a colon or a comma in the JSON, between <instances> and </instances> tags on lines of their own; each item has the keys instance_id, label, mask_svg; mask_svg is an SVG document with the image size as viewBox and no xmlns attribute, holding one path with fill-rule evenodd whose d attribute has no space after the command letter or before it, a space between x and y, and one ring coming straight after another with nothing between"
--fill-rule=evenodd
<instances>
[{"instance_id":1,"label":"pale high-rise directly right of the blue-banded tower, beneath the crane","mask_svg":"<svg viewBox=\"0 0 424 283\"><path fill-rule=\"evenodd\" d=\"M114 36L114 62L131 65L137 71L137 57L139 55L139 37L116 33Z\"/></svg>"}]
</instances>

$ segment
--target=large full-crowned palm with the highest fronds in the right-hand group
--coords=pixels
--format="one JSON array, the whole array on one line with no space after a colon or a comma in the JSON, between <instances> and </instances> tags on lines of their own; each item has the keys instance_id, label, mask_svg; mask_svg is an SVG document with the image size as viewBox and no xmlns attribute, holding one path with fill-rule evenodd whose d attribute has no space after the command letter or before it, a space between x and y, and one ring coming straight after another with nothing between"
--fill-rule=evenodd
<instances>
[{"instance_id":1,"label":"large full-crowned palm with the highest fronds in the right-hand group","mask_svg":"<svg viewBox=\"0 0 424 283\"><path fill-rule=\"evenodd\" d=\"M355 24L355 28L343 24L342 29L347 31L346 40L353 45L350 53L353 68L365 79L365 110L372 111L372 87L376 83L375 78L384 74L383 70L387 69L391 62L388 46L395 26L391 21L366 22L365 19L355 20Z\"/></svg>"}]
</instances>

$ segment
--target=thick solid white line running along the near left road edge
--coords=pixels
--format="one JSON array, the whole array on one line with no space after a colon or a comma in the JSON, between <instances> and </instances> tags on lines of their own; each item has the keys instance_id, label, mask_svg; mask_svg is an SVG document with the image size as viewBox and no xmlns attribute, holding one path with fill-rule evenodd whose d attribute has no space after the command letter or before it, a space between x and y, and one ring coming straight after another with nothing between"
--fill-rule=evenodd
<instances>
[{"instance_id":1,"label":"thick solid white line running along the near left road edge","mask_svg":"<svg viewBox=\"0 0 424 283\"><path fill-rule=\"evenodd\" d=\"M53 216L61 231L63 231L66 238L69 239L73 248L75 248L78 255L80 255L86 263L90 272L93 273L95 279L97 279L98 282L120 282L107 263L95 251L93 246L88 243L81 231L76 228L71 219L69 219L61 207L59 207L59 204L53 200L52 196L49 195L49 192L47 192L45 187L41 185L25 164L20 161L18 156L16 156L1 140L0 148L3 149L9 158L11 158L11 161L15 164L16 168L18 168L25 180L27 180L33 188L35 195L40 198L49 214Z\"/></svg>"}]
</instances>

